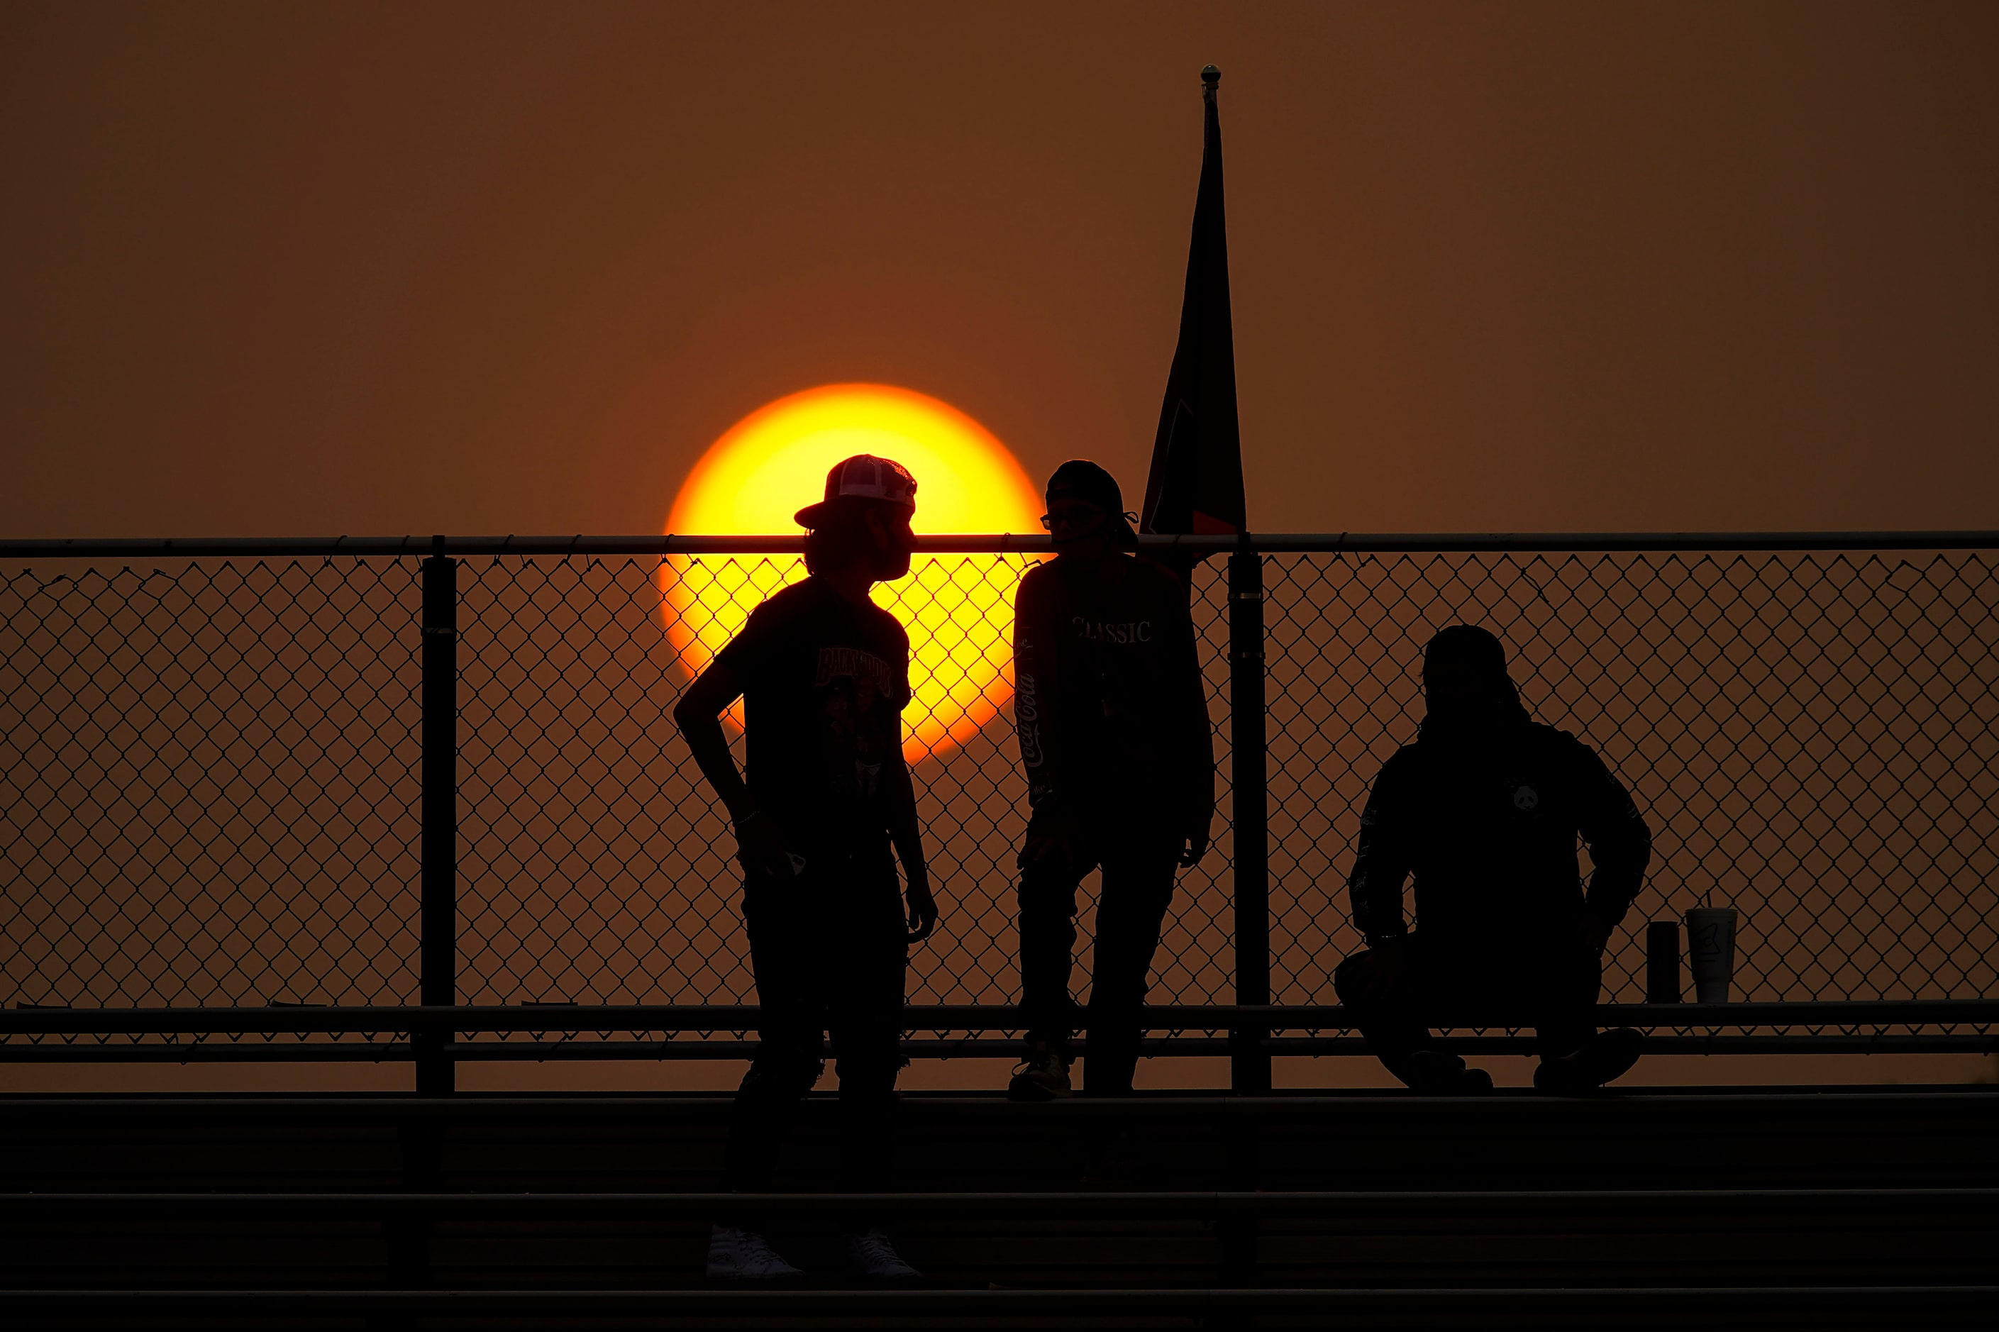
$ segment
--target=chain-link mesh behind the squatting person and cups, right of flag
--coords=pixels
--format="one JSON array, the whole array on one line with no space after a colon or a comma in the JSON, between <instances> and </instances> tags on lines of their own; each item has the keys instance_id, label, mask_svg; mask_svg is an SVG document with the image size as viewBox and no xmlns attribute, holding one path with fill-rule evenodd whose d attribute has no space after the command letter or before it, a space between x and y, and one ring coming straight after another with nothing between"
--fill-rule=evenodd
<instances>
[{"instance_id":1,"label":"chain-link mesh behind the squatting person and cups, right of flag","mask_svg":"<svg viewBox=\"0 0 1999 1332\"><path fill-rule=\"evenodd\" d=\"M1747 1000L1995 990L1999 580L1989 552L1271 556L1273 998L1359 946L1359 806L1421 718L1419 644L1505 640L1537 720L1633 790L1653 860L1605 958L1643 998L1643 926L1741 912ZM1587 866L1587 856L1585 856Z\"/></svg>"}]
</instances>

